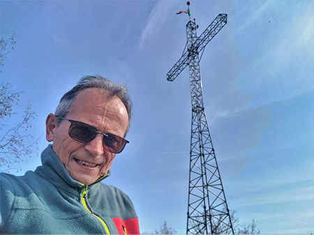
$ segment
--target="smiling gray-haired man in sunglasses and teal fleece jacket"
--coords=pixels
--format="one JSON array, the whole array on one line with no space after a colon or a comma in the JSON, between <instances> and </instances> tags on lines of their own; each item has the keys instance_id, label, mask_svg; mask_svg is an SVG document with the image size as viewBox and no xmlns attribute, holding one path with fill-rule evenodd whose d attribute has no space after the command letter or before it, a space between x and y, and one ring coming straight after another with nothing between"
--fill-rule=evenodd
<instances>
[{"instance_id":1,"label":"smiling gray-haired man in sunglasses and teal fleece jacket","mask_svg":"<svg viewBox=\"0 0 314 235\"><path fill-rule=\"evenodd\" d=\"M101 183L128 143L126 87L100 76L80 79L46 120L42 166L1 174L1 234L140 234L129 197Z\"/></svg>"}]
</instances>

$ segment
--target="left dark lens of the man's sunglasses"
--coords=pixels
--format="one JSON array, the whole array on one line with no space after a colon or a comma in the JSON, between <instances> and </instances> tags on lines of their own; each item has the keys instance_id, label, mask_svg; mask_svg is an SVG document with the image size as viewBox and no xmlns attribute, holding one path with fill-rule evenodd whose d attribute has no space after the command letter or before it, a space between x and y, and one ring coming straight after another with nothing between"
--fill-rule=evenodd
<instances>
[{"instance_id":1,"label":"left dark lens of the man's sunglasses","mask_svg":"<svg viewBox=\"0 0 314 235\"><path fill-rule=\"evenodd\" d=\"M77 140L78 142L87 143L91 142L91 140L96 137L97 133L96 128L94 128L93 126L75 121L71 123L68 130L68 135L70 135L71 138Z\"/></svg>"}]
</instances>

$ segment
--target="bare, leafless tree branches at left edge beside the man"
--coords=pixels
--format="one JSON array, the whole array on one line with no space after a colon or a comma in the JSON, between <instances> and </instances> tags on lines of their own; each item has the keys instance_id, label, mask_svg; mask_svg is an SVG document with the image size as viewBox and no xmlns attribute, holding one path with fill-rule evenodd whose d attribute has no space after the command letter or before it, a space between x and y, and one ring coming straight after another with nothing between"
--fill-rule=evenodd
<instances>
[{"instance_id":1,"label":"bare, leafless tree branches at left edge beside the man","mask_svg":"<svg viewBox=\"0 0 314 235\"><path fill-rule=\"evenodd\" d=\"M0 68L3 67L3 61L9 53L7 47L13 50L15 45L14 34L11 38L0 40ZM0 70L1 71L1 70ZM0 84L0 171L10 172L13 163L24 160L22 156L31 156L37 152L37 141L29 141L32 138L27 134L29 120L36 116L36 113L31 110L31 105L27 105L24 110L22 121L13 126L6 125L9 119L12 119L16 114L13 112L13 106L19 103L21 92L15 93L11 91L10 84ZM17 172L19 169L17 169Z\"/></svg>"}]
</instances>

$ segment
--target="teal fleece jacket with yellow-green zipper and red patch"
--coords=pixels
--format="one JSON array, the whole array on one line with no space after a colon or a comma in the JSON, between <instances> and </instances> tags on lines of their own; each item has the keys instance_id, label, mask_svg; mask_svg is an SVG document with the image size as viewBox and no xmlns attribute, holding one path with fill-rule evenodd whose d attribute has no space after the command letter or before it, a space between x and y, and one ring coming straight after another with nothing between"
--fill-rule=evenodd
<instances>
[{"instance_id":1,"label":"teal fleece jacket with yellow-green zipper and red patch","mask_svg":"<svg viewBox=\"0 0 314 235\"><path fill-rule=\"evenodd\" d=\"M41 160L24 176L1 173L0 234L140 234L124 192L75 181L51 144Z\"/></svg>"}]
</instances>

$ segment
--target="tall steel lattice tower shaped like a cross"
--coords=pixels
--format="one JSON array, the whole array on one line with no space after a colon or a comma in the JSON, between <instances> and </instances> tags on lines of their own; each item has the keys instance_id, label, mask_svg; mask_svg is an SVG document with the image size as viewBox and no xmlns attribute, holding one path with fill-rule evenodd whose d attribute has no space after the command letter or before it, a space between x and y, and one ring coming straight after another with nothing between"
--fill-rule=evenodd
<instances>
[{"instance_id":1,"label":"tall steel lattice tower shaped like a cross","mask_svg":"<svg viewBox=\"0 0 314 235\"><path fill-rule=\"evenodd\" d=\"M188 8L188 12L189 10ZM214 147L209 134L200 75L200 57L202 57L204 48L225 24L227 24L227 15L220 14L197 37L198 26L195 24L195 19L194 21L189 20L186 24L187 43L184 53L167 73L167 80L170 82L186 66L188 66L190 73L192 128L186 234L234 234Z\"/></svg>"}]
</instances>

